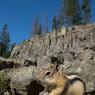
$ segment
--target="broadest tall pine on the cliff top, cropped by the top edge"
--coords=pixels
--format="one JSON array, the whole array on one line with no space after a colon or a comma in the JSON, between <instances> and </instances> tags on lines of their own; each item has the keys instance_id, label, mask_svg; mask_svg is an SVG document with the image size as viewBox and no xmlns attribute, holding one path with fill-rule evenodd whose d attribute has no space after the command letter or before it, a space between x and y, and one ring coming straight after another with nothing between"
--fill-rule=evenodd
<instances>
[{"instance_id":1,"label":"broadest tall pine on the cliff top, cropped by the top edge","mask_svg":"<svg viewBox=\"0 0 95 95\"><path fill-rule=\"evenodd\" d=\"M81 10L79 0L62 0L61 18L65 24L77 25L81 23Z\"/></svg>"}]
</instances>

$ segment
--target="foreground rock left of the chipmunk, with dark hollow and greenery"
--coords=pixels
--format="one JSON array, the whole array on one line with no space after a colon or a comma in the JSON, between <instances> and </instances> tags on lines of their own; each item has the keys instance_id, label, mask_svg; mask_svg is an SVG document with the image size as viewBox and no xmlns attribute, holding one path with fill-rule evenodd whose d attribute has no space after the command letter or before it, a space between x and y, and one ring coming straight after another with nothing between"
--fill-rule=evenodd
<instances>
[{"instance_id":1,"label":"foreground rock left of the chipmunk, with dark hollow and greenery","mask_svg":"<svg viewBox=\"0 0 95 95\"><path fill-rule=\"evenodd\" d=\"M40 68L34 66L0 71L0 95L39 95L44 90L37 79L39 71Z\"/></svg>"}]
</instances>

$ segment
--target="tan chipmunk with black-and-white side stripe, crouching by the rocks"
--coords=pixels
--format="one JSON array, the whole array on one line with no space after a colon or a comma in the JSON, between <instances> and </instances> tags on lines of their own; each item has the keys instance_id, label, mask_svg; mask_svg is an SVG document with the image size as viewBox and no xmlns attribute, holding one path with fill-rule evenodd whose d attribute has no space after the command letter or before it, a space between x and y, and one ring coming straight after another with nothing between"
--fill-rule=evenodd
<instances>
[{"instance_id":1,"label":"tan chipmunk with black-and-white side stripe, crouching by the rocks","mask_svg":"<svg viewBox=\"0 0 95 95\"><path fill-rule=\"evenodd\" d=\"M39 95L85 95L86 87L82 79L77 75L66 75L62 71L46 71L43 77L46 89ZM48 93L47 93L48 92Z\"/></svg>"}]
</instances>

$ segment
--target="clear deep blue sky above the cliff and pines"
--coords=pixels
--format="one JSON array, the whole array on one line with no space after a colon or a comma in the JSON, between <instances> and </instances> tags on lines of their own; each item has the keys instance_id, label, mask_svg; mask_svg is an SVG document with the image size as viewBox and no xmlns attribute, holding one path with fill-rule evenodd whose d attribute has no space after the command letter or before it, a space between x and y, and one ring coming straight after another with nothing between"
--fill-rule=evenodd
<instances>
[{"instance_id":1,"label":"clear deep blue sky above the cliff and pines","mask_svg":"<svg viewBox=\"0 0 95 95\"><path fill-rule=\"evenodd\" d=\"M95 21L95 0L91 0L92 21ZM0 31L8 24L11 42L17 44L28 39L35 17L44 21L47 14L49 27L52 17L58 14L60 0L0 0Z\"/></svg>"}]
</instances>

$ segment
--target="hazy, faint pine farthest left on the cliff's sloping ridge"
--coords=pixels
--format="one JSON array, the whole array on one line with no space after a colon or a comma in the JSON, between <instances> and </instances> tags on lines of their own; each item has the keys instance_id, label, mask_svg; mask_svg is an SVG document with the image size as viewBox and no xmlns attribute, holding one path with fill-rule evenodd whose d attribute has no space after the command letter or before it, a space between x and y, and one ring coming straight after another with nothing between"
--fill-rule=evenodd
<instances>
[{"instance_id":1,"label":"hazy, faint pine farthest left on the cliff's sloping ridge","mask_svg":"<svg viewBox=\"0 0 95 95\"><path fill-rule=\"evenodd\" d=\"M38 17L35 18L32 28L33 28L32 30L33 36L42 35L42 27L41 27Z\"/></svg>"}]
</instances>

